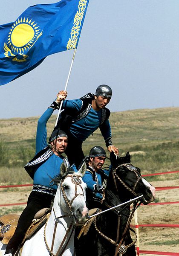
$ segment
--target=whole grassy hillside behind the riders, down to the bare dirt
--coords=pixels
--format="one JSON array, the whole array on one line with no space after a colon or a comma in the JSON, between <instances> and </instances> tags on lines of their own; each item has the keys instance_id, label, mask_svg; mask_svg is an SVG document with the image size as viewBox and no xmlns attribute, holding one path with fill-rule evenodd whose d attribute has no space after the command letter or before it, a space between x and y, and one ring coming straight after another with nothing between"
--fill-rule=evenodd
<instances>
[{"instance_id":1,"label":"whole grassy hillside behind the riders, down to the bare dirt","mask_svg":"<svg viewBox=\"0 0 179 256\"><path fill-rule=\"evenodd\" d=\"M111 113L113 143L119 148L120 155L126 154L127 151L132 152L132 163L141 168L143 174L177 170L178 116L179 108ZM52 115L47 123L48 137L54 128L55 120L56 115ZM37 122L38 117L1 119L0 166L12 168L13 173L15 166L23 167L32 159L35 153ZM99 129L93 135L83 143L85 155L89 154L94 145L105 148ZM1 169L0 172L2 171Z\"/></svg>"}]
</instances>

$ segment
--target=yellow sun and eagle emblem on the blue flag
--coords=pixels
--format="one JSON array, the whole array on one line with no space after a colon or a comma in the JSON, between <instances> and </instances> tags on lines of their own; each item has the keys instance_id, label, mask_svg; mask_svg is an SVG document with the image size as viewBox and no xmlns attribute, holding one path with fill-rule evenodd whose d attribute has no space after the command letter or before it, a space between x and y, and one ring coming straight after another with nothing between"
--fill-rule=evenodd
<instances>
[{"instance_id":1,"label":"yellow sun and eagle emblem on the blue flag","mask_svg":"<svg viewBox=\"0 0 179 256\"><path fill-rule=\"evenodd\" d=\"M7 43L4 43L4 55L12 61L23 62L29 57L26 52L42 35L38 23L29 18L19 18L10 29Z\"/></svg>"}]
</instances>

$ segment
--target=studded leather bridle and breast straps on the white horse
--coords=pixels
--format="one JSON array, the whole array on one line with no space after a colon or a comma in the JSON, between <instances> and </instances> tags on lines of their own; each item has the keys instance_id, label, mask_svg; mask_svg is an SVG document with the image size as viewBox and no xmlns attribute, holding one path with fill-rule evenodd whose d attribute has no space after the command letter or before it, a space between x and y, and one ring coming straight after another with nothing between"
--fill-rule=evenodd
<instances>
[{"instance_id":1,"label":"studded leather bridle and breast straps on the white horse","mask_svg":"<svg viewBox=\"0 0 179 256\"><path fill-rule=\"evenodd\" d=\"M72 198L71 201L69 201L68 198L66 197L66 193L65 193L64 187L63 187L63 182L64 182L64 180L65 180L67 177L71 177L72 183L75 184L75 195L74 195L74 197ZM72 203L73 203L73 201L75 200L75 198L78 197L78 195L84 196L84 190L83 190L83 188L82 188L82 186L81 186L80 177L81 177L81 176L80 176L80 175L77 175L77 174L69 174L69 175L66 175L66 177L62 178L62 180L61 180L61 188L60 188L60 189L61 189L63 198L64 198L64 200L65 200L65 202L66 202L66 204L67 204L67 206L68 206L68 208L69 208L69 212L68 212L67 214L65 214L65 215L60 216L60 217L56 217L56 215L55 215L55 210L54 210L54 208L52 207L53 212L54 212L54 215L55 215L55 227L54 227L54 232L53 232L52 247L51 247L51 249L49 248L49 246L48 246L48 244L47 244L46 235L45 235L45 230L46 230L47 221L46 221L45 228L44 228L44 232L43 232L43 237L44 237L44 241L45 241L45 244L46 244L46 248L47 248L47 250L49 251L50 256L62 256L62 255L63 255L64 250L65 250L65 248L66 248L66 246L67 246L67 244L68 244L68 242L69 242L69 240L70 240L70 238L71 238L71 236L72 236L72 233L73 233L73 231L74 231L74 229L75 229L75 226L73 225L73 220L72 220L71 223L69 224L69 227L68 227L67 231L66 231L66 234L65 234L65 236L64 236L64 239L62 240L62 242L61 242L61 244L60 244L60 246L59 246L59 248L58 248L57 253L54 254L52 251L53 251L53 247L54 247L55 233L56 233L56 229L57 229L57 224L59 223L60 218L65 218L65 217L75 218L75 215L74 215L74 213L73 213L73 211L72 211ZM81 188L82 193L78 193L78 194L77 194L78 186ZM60 193L61 193L61 192L60 192ZM75 218L75 219L76 219L76 218ZM47 219L47 220L48 220L48 219ZM71 229L72 229L72 230L71 230ZM71 233L70 233L70 235L69 235L70 230L71 230ZM67 238L68 235L69 235L69 238L66 240L66 238ZM66 240L66 242L65 242L65 240ZM64 242L65 242L65 244L64 244Z\"/></svg>"}]
</instances>

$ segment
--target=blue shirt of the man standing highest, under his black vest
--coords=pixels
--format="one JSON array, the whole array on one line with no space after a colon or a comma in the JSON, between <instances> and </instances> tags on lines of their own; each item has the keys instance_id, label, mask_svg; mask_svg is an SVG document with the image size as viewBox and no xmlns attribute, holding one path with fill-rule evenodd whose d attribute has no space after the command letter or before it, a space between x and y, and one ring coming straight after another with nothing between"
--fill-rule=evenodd
<instances>
[{"instance_id":1,"label":"blue shirt of the man standing highest, under his black vest","mask_svg":"<svg viewBox=\"0 0 179 256\"><path fill-rule=\"evenodd\" d=\"M80 111L82 103L83 102L81 99L65 100L63 102L62 109L76 109L77 111ZM70 126L70 132L74 137L84 141L100 126L101 118L102 111L95 111L93 108L91 108L89 113L84 118L72 123ZM100 127L100 130L104 140L111 137L111 127L108 119L104 121L104 124Z\"/></svg>"}]
</instances>

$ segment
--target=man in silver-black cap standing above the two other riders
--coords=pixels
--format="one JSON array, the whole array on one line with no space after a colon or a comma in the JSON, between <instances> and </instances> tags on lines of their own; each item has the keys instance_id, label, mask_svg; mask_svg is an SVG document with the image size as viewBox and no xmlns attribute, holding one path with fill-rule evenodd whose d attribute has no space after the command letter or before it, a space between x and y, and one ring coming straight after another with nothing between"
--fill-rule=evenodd
<instances>
[{"instance_id":1,"label":"man in silver-black cap standing above the two other riders","mask_svg":"<svg viewBox=\"0 0 179 256\"><path fill-rule=\"evenodd\" d=\"M64 91L59 91L57 96L64 93ZM82 143L98 128L104 137L107 149L117 153L111 140L110 111L106 108L111 97L111 88L102 84L98 86L95 94L87 93L80 99L63 102L64 111L59 116L57 127L66 131L68 135L69 143L65 153L70 165L75 163L75 166L79 168L81 161L84 160Z\"/></svg>"}]
</instances>

